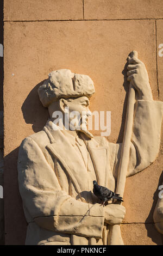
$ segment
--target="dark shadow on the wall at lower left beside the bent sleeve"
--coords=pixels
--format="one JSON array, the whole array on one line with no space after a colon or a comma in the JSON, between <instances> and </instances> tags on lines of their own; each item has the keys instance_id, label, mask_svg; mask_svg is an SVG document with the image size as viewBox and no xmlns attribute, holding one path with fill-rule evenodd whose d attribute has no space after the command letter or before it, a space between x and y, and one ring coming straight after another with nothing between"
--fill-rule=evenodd
<instances>
[{"instance_id":1,"label":"dark shadow on the wall at lower left beside the bent sleeve","mask_svg":"<svg viewBox=\"0 0 163 256\"><path fill-rule=\"evenodd\" d=\"M4 157L5 245L24 245L26 239L27 222L18 191L17 156L18 148Z\"/></svg>"}]
</instances>

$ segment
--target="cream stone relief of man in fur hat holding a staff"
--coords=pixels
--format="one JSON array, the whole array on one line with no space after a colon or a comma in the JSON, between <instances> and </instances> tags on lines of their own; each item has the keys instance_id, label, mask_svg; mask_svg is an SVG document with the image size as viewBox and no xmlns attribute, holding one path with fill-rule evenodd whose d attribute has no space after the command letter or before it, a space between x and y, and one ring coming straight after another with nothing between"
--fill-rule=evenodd
<instances>
[{"instance_id":1,"label":"cream stone relief of man in fur hat holding a staff","mask_svg":"<svg viewBox=\"0 0 163 256\"><path fill-rule=\"evenodd\" d=\"M93 137L86 129L91 114L89 99L95 93L89 76L56 70L39 87L40 101L51 118L42 131L24 139L18 155L27 245L123 244L119 224L126 209L114 203L103 207L92 192L92 181L111 191L116 191L117 183L123 194L126 176L140 172L156 159L163 112L162 102L153 100L145 65L136 53L128 62L134 109L132 118L127 117L126 130L131 133L125 139L129 141L127 147L125 143L110 143L105 137ZM63 114L64 129L55 122L56 111ZM73 111L82 117L76 119L76 130L71 129ZM123 167L123 152L128 160L121 174L118 169Z\"/></svg>"}]
</instances>

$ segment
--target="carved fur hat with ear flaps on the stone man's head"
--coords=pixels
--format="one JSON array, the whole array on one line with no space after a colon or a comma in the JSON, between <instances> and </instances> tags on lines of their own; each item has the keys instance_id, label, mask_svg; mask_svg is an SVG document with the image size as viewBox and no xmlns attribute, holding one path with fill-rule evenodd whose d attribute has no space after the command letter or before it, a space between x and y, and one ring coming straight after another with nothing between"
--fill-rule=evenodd
<instances>
[{"instance_id":1,"label":"carved fur hat with ear flaps on the stone man's head","mask_svg":"<svg viewBox=\"0 0 163 256\"><path fill-rule=\"evenodd\" d=\"M87 96L95 93L93 81L87 75L72 73L69 69L52 71L38 89L44 107L61 98Z\"/></svg>"}]
</instances>

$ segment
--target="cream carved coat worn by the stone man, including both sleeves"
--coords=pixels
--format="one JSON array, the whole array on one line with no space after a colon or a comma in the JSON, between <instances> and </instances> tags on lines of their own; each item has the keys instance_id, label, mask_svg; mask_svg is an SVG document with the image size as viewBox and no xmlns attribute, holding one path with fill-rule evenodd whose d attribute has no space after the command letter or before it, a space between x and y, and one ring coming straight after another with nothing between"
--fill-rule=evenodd
<instances>
[{"instance_id":1,"label":"cream carved coat worn by the stone man, including both sleeves","mask_svg":"<svg viewBox=\"0 0 163 256\"><path fill-rule=\"evenodd\" d=\"M162 102L136 101L127 176L156 159L162 112ZM28 222L26 244L109 245L110 226L92 181L114 191L120 154L121 143L78 136L73 142L66 131L54 131L51 120L24 139L18 183Z\"/></svg>"}]
</instances>

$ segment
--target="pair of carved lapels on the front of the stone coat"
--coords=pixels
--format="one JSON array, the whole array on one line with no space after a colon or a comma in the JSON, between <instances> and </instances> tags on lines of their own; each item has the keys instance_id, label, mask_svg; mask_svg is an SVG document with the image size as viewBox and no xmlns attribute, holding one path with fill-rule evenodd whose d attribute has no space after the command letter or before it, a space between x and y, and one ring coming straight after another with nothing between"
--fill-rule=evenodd
<instances>
[{"instance_id":1,"label":"pair of carved lapels on the front of the stone coat","mask_svg":"<svg viewBox=\"0 0 163 256\"><path fill-rule=\"evenodd\" d=\"M43 129L51 142L46 148L62 163L67 175L70 176L73 182L74 188L79 194L85 190L85 185L87 184L87 173L83 175L83 170L85 170L84 162L79 160L76 150L66 136L60 130L52 130L49 126L51 123L49 122ZM103 139L101 138L101 143L98 143L95 138L85 140L84 142L89 150L95 168L97 182L101 186L106 186L109 174L109 166L106 163L109 159L109 150L105 146L105 140L103 141Z\"/></svg>"}]
</instances>

